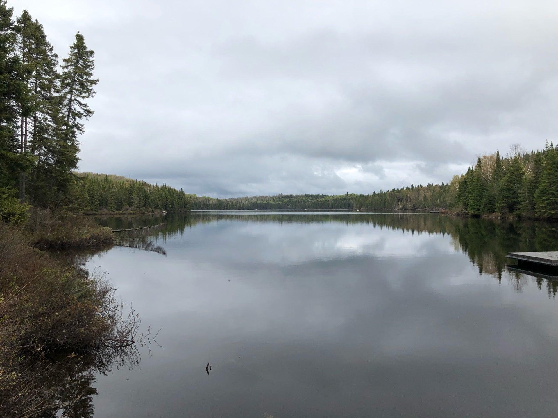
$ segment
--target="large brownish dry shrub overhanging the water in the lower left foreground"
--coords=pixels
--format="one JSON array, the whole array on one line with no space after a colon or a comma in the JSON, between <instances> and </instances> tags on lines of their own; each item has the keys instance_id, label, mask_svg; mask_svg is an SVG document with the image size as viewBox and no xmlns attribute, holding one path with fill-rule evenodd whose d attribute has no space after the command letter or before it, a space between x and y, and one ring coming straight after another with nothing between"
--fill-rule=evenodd
<instances>
[{"instance_id":1,"label":"large brownish dry shrub overhanging the water in the lower left foreground","mask_svg":"<svg viewBox=\"0 0 558 418\"><path fill-rule=\"evenodd\" d=\"M70 411L93 371L137 363L140 322L121 312L102 275L59 264L0 224L0 416Z\"/></svg>"}]
</instances>

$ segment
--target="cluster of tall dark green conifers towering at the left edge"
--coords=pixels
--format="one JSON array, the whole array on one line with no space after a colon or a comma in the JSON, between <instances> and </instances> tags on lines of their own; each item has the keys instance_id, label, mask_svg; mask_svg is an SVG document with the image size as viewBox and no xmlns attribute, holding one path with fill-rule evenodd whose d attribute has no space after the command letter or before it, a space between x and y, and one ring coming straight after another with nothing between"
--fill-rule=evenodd
<instances>
[{"instance_id":1,"label":"cluster of tall dark green conifers towering at the left edge","mask_svg":"<svg viewBox=\"0 0 558 418\"><path fill-rule=\"evenodd\" d=\"M76 204L79 134L93 111L93 51L78 33L60 62L44 28L0 0L0 187L19 188L22 202Z\"/></svg>"}]
</instances>

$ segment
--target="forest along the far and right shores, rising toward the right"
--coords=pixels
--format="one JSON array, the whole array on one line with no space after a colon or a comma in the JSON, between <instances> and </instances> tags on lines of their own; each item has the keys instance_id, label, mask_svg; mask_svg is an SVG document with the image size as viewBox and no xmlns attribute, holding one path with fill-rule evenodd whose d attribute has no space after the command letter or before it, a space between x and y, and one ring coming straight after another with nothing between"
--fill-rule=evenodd
<instances>
[{"instance_id":1,"label":"forest along the far and right shores, rising toward the right","mask_svg":"<svg viewBox=\"0 0 558 418\"><path fill-rule=\"evenodd\" d=\"M479 157L475 167L451 182L421 184L371 195L277 195L216 199L196 196L194 210L322 209L439 210L472 216L490 213L525 217L558 217L558 150L525 152L513 145L507 157L497 151Z\"/></svg>"}]
</instances>

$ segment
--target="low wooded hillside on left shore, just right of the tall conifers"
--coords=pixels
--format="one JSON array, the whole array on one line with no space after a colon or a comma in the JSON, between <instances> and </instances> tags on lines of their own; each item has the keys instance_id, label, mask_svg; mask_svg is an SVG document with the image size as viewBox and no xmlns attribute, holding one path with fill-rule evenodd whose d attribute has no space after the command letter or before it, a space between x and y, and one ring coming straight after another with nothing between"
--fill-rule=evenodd
<instances>
[{"instance_id":1,"label":"low wooded hillside on left shore, just right of the tall conifers","mask_svg":"<svg viewBox=\"0 0 558 418\"><path fill-rule=\"evenodd\" d=\"M76 210L83 212L181 212L190 210L191 199L182 189L153 186L145 181L95 173L81 177Z\"/></svg>"}]
</instances>

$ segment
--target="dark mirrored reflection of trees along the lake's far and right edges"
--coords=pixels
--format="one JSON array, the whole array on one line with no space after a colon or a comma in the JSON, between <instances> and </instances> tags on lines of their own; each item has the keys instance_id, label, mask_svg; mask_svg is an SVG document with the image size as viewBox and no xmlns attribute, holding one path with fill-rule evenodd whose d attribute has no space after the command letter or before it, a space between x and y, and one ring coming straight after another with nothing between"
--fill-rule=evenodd
<instances>
[{"instance_id":1,"label":"dark mirrored reflection of trees along the lake's far and right edges","mask_svg":"<svg viewBox=\"0 0 558 418\"><path fill-rule=\"evenodd\" d=\"M502 283L507 264L506 254L513 251L555 251L558 242L558 223L545 221L510 221L485 218L461 218L431 213L304 213L265 211L220 211L167 213L159 216L111 216L99 217L102 225L112 229L137 228L165 222L165 227L148 236L151 246L163 243L170 237L182 236L187 228L198 223L223 221L278 222L278 223L366 223L374 227L389 228L411 234L441 234L451 236L456 251L468 255L480 274L494 276ZM147 237L143 237L147 239ZM139 241L137 241L139 242ZM126 242L123 243L126 245ZM134 243L132 243L134 244ZM129 246L129 245L126 245ZM131 245L133 247L133 245ZM141 247L140 244L138 247ZM531 278L523 273L511 271L509 284L522 291ZM536 277L536 276L535 276ZM546 283L550 297L558 292L558 282L551 278L535 278L539 288Z\"/></svg>"}]
</instances>

